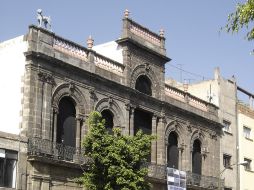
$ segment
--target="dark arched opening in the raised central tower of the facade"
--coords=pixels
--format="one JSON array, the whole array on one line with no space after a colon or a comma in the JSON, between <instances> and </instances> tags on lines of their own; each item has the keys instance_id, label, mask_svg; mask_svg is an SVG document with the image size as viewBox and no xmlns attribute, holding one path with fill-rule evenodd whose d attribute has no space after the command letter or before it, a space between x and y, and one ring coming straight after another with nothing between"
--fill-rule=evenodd
<instances>
[{"instance_id":1,"label":"dark arched opening in the raised central tower of the facade","mask_svg":"<svg viewBox=\"0 0 254 190\"><path fill-rule=\"evenodd\" d=\"M145 75L141 75L138 77L136 81L135 89L144 94L147 94L150 96L152 95L152 83L150 79Z\"/></svg>"}]
</instances>

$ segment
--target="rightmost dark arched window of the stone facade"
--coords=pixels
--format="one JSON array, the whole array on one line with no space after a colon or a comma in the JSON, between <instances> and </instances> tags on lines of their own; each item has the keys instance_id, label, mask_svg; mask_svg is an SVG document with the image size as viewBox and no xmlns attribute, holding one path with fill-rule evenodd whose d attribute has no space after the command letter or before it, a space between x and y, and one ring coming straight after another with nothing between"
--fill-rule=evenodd
<instances>
[{"instance_id":1,"label":"rightmost dark arched window of the stone facade","mask_svg":"<svg viewBox=\"0 0 254 190\"><path fill-rule=\"evenodd\" d=\"M201 175L202 157L201 157L201 142L196 139L193 143L192 151L192 172Z\"/></svg>"}]
</instances>

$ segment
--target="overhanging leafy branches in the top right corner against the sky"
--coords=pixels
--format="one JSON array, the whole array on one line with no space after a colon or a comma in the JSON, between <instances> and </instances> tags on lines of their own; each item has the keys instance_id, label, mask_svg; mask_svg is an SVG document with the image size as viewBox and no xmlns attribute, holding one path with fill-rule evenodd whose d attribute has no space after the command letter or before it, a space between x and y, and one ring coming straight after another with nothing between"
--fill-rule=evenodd
<instances>
[{"instance_id":1,"label":"overhanging leafy branches in the top right corner against the sky","mask_svg":"<svg viewBox=\"0 0 254 190\"><path fill-rule=\"evenodd\" d=\"M226 31L237 33L240 29L246 28L247 40L254 39L254 0L247 0L245 3L238 3L236 11L228 15Z\"/></svg>"}]
</instances>

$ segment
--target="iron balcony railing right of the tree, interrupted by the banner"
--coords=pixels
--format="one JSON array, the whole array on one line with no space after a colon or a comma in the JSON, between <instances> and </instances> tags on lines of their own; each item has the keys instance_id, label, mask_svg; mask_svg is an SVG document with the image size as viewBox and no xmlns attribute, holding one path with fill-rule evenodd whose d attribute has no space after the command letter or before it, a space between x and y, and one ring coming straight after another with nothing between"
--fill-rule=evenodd
<instances>
[{"instance_id":1,"label":"iron balcony railing right of the tree, interrupted by the banner","mask_svg":"<svg viewBox=\"0 0 254 190\"><path fill-rule=\"evenodd\" d=\"M149 177L161 180L167 179L167 167L165 165L149 163L146 166L148 167ZM218 189L219 183L221 187L224 187L224 180L219 182L218 177L198 175L190 171L186 172L186 176L186 185L189 187L197 186L205 189Z\"/></svg>"}]
</instances>

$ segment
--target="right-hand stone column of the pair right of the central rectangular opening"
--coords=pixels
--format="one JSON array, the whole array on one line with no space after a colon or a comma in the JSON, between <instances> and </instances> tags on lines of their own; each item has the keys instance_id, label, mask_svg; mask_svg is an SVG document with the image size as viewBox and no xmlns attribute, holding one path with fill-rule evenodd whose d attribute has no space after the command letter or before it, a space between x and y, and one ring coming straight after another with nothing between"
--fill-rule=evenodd
<instances>
[{"instance_id":1,"label":"right-hand stone column of the pair right of the central rectangular opening","mask_svg":"<svg viewBox=\"0 0 254 190\"><path fill-rule=\"evenodd\" d=\"M166 164L165 117L159 118L157 127L157 164Z\"/></svg>"}]
</instances>

